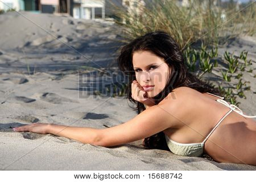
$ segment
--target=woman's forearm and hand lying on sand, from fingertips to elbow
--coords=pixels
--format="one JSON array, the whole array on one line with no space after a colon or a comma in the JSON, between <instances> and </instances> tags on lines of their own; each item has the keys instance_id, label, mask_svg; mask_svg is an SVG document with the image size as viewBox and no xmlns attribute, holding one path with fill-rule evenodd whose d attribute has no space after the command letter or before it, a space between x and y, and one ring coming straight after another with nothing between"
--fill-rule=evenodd
<instances>
[{"instance_id":1,"label":"woman's forearm and hand lying on sand, from fingertips to elbow","mask_svg":"<svg viewBox=\"0 0 256 182\"><path fill-rule=\"evenodd\" d=\"M20 132L30 131L39 134L50 133L60 137L67 137L82 143L89 144L94 144L97 142L97 136L99 131L99 129L93 129L89 127L71 127L46 123L33 123L31 125L16 127L13 130Z\"/></svg>"}]
</instances>

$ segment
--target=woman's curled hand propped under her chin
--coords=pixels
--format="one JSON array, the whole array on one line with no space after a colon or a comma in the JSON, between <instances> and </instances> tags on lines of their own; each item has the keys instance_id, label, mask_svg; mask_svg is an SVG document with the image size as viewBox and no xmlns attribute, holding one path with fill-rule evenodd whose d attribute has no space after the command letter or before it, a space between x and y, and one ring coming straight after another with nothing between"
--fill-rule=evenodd
<instances>
[{"instance_id":1,"label":"woman's curled hand propped under her chin","mask_svg":"<svg viewBox=\"0 0 256 182\"><path fill-rule=\"evenodd\" d=\"M139 85L138 81L134 80L131 83L131 97L138 102L141 102L147 106L155 105L155 102L152 98L147 97L147 92Z\"/></svg>"}]
</instances>

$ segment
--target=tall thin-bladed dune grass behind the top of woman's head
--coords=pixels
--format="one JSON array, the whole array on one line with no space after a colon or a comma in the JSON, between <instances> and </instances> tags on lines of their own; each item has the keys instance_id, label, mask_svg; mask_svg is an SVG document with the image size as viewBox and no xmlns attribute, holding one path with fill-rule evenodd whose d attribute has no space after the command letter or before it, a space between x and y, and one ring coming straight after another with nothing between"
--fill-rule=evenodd
<instances>
[{"instance_id":1,"label":"tall thin-bladed dune grass behind the top of woman's head","mask_svg":"<svg viewBox=\"0 0 256 182\"><path fill-rule=\"evenodd\" d=\"M147 0L145 0L148 2ZM205 45L223 44L238 35L255 35L255 2L237 10L234 6L216 6L213 1L189 1L180 6L175 0L154 1L137 10L114 6L127 42L148 30L163 30L172 35L181 49L201 40ZM225 17L221 16L225 13Z\"/></svg>"}]
</instances>

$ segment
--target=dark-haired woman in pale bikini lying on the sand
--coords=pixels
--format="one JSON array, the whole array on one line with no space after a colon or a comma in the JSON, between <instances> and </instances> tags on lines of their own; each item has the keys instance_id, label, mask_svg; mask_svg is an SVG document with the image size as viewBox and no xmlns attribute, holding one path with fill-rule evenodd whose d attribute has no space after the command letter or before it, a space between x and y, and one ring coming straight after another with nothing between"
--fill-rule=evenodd
<instances>
[{"instance_id":1,"label":"dark-haired woman in pale bikini lying on the sand","mask_svg":"<svg viewBox=\"0 0 256 182\"><path fill-rule=\"evenodd\" d=\"M243 114L189 73L171 36L158 31L138 37L122 48L118 66L130 78L127 98L137 104L135 118L108 129L33 123L13 130L104 147L144 139L144 147L176 155L256 165L256 123L250 119L256 116Z\"/></svg>"}]
</instances>

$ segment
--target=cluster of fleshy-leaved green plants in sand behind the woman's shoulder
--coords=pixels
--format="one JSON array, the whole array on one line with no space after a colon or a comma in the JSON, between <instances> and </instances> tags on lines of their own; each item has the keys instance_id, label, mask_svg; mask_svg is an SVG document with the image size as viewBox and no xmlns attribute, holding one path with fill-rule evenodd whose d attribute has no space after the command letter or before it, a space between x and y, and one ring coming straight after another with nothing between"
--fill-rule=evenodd
<instances>
[{"instance_id":1,"label":"cluster of fleshy-leaved green plants in sand behind the woman's shoulder","mask_svg":"<svg viewBox=\"0 0 256 182\"><path fill-rule=\"evenodd\" d=\"M212 48L212 49L207 49L204 44L201 44L201 47L196 50L191 47L187 47L183 51L183 56L185 59L185 63L189 69L189 71L196 71L196 63L199 61L199 69L202 71L199 74L199 77L203 76L204 73L209 71L212 71L213 67L217 67L217 60L214 60L214 64L210 63L210 58L214 58L218 56L218 49L217 48ZM229 101L232 104L238 105L240 102L236 101L236 95L245 98L245 90L250 90L250 86L247 86L246 84L250 82L249 81L242 81L242 76L243 76L243 71L245 71L246 65L248 62L245 63L239 63L238 64L238 59L241 59L243 61L247 60L247 53L246 51L242 51L240 53L239 57L234 56L234 54L230 54L227 51L224 53L224 60L228 61L228 70L227 71L222 71L222 78L224 81L230 82L232 74L234 72L238 72L238 74L235 76L236 79L239 79L237 84L234 84L231 88L224 89L222 86L218 85L218 89L220 90L221 94L225 96L225 100ZM247 64L246 64L247 63ZM238 66L239 65L239 66ZM239 72L241 71L241 72ZM247 72L252 72L253 69L251 68ZM254 75L255 77L255 75ZM236 92L233 92L236 90ZM237 93L237 94L236 94Z\"/></svg>"}]
</instances>

